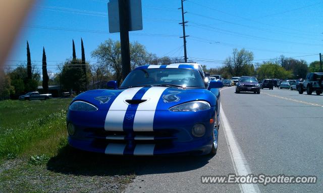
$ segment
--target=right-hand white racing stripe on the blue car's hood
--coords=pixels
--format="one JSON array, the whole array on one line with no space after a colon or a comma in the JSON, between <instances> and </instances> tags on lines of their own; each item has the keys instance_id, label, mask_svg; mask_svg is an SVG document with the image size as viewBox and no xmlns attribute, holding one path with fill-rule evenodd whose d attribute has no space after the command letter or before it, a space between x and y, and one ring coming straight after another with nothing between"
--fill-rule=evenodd
<instances>
[{"instance_id":1,"label":"right-hand white racing stripe on the blue car's hood","mask_svg":"<svg viewBox=\"0 0 323 193\"><path fill-rule=\"evenodd\" d=\"M153 117L161 94L167 87L151 87L143 95L142 99L146 102L138 105L134 122L133 131L135 132L152 132L153 131Z\"/></svg>"}]
</instances>

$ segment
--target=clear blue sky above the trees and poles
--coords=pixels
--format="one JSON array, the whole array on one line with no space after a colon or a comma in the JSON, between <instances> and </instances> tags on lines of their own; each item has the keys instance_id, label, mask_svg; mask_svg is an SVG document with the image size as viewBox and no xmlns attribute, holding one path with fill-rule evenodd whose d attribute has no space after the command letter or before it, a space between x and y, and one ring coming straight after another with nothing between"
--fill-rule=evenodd
<instances>
[{"instance_id":1,"label":"clear blue sky above the trees and poles","mask_svg":"<svg viewBox=\"0 0 323 193\"><path fill-rule=\"evenodd\" d=\"M107 2L36 1L8 60L26 60L28 40L36 65L41 68L44 46L48 70L57 72L57 63L72 57L72 39L81 57L83 38L86 60L95 63L91 51L106 39L120 39L119 33L107 33ZM130 41L138 41L157 56L183 56L180 6L180 0L142 0L143 30L129 32ZM187 0L184 10L188 12L187 55L207 68L222 66L233 48L253 51L254 62L283 54L310 63L323 52L320 0ZM6 65L15 68L16 63Z\"/></svg>"}]
</instances>

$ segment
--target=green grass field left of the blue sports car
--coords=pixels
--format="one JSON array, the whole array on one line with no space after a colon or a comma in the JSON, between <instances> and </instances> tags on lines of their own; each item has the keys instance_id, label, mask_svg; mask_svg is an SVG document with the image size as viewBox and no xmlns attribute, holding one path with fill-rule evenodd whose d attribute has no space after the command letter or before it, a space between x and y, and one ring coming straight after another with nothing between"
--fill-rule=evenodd
<instances>
[{"instance_id":1,"label":"green grass field left of the blue sports car","mask_svg":"<svg viewBox=\"0 0 323 193\"><path fill-rule=\"evenodd\" d=\"M56 155L66 143L66 112L71 99L0 101L0 159Z\"/></svg>"}]
</instances>

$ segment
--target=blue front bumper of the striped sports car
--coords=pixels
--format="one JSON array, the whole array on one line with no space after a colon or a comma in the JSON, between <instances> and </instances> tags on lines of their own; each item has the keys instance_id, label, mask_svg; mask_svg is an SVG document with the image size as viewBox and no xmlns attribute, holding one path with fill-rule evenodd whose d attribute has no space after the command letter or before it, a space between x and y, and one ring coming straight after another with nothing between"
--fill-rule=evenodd
<instances>
[{"instance_id":1,"label":"blue front bumper of the striped sports car","mask_svg":"<svg viewBox=\"0 0 323 193\"><path fill-rule=\"evenodd\" d=\"M69 145L90 152L112 155L204 155L211 151L214 124L210 118L215 115L215 107L200 112L156 111L153 131L134 132L106 131L104 123L106 111L81 113L69 111L67 123L73 123L75 134L68 136ZM80 118L82 117L82 118ZM203 137L192 136L192 127L204 124Z\"/></svg>"}]
</instances>

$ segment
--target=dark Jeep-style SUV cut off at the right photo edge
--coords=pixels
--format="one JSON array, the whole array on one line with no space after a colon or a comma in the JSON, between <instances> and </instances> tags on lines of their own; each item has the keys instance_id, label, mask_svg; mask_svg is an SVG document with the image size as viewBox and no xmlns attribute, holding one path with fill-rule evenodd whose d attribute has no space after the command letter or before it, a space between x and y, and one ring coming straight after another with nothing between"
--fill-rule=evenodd
<instances>
[{"instance_id":1,"label":"dark Jeep-style SUV cut off at the right photo edge","mask_svg":"<svg viewBox=\"0 0 323 193\"><path fill-rule=\"evenodd\" d=\"M323 73L308 73L303 83L296 85L298 93L303 94L304 90L308 95L311 95L313 91L316 95L320 95L323 92Z\"/></svg>"}]
</instances>

